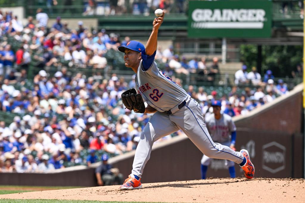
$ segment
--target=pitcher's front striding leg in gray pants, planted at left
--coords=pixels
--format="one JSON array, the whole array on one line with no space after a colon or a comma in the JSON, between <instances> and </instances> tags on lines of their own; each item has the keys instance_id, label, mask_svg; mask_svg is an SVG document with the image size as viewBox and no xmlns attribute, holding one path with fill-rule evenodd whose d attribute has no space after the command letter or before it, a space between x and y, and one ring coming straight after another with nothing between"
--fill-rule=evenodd
<instances>
[{"instance_id":1,"label":"pitcher's front striding leg in gray pants, planted at left","mask_svg":"<svg viewBox=\"0 0 305 203\"><path fill-rule=\"evenodd\" d=\"M149 122L141 133L140 141L135 151L131 174L141 177L145 164L150 158L152 144L161 137L178 130L179 128L170 121L166 113L156 112L149 119Z\"/></svg>"}]
</instances>

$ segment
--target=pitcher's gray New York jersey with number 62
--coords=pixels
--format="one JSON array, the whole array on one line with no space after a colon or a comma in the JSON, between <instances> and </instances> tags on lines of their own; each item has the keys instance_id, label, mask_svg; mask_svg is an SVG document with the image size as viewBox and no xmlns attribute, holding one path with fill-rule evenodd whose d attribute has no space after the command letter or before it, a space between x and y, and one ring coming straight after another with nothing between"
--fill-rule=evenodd
<instances>
[{"instance_id":1,"label":"pitcher's gray New York jersey with number 62","mask_svg":"<svg viewBox=\"0 0 305 203\"><path fill-rule=\"evenodd\" d=\"M182 87L158 69L156 62L153 62L148 70L143 71L141 60L135 83L143 100L160 112L172 109L188 95Z\"/></svg>"}]
</instances>

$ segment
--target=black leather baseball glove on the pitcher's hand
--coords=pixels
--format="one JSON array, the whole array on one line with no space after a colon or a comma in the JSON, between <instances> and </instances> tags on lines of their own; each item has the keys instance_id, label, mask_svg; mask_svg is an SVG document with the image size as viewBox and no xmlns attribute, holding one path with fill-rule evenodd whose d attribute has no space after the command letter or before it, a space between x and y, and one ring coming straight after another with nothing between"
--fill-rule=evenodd
<instances>
[{"instance_id":1,"label":"black leather baseball glove on the pitcher's hand","mask_svg":"<svg viewBox=\"0 0 305 203\"><path fill-rule=\"evenodd\" d=\"M134 88L124 91L121 96L123 104L127 109L134 110L136 113L145 112L142 96L141 94L138 94Z\"/></svg>"}]
</instances>

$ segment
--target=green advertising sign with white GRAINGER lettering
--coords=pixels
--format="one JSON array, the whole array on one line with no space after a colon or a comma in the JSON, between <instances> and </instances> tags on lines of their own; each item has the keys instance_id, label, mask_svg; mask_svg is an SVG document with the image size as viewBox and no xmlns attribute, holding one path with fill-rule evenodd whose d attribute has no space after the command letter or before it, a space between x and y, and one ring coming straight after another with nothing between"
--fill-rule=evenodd
<instances>
[{"instance_id":1,"label":"green advertising sign with white GRAINGER lettering","mask_svg":"<svg viewBox=\"0 0 305 203\"><path fill-rule=\"evenodd\" d=\"M272 2L189 1L188 37L271 37Z\"/></svg>"}]
</instances>

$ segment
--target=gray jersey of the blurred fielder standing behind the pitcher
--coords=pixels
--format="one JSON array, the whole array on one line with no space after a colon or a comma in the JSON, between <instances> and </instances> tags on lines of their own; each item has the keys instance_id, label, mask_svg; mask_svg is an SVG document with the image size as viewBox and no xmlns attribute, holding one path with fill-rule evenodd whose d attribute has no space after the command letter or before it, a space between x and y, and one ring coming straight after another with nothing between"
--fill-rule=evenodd
<instances>
[{"instance_id":1,"label":"gray jersey of the blurred fielder standing behind the pitcher","mask_svg":"<svg viewBox=\"0 0 305 203\"><path fill-rule=\"evenodd\" d=\"M206 117L206 126L214 142L225 143L231 139L231 132L236 131L236 126L232 117L228 114L221 114L220 119L215 119L215 115Z\"/></svg>"}]
</instances>

